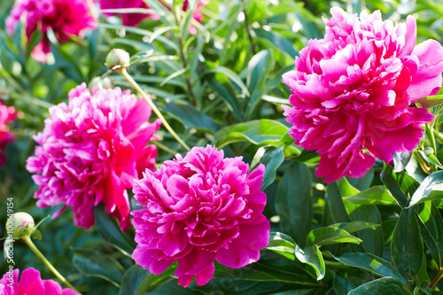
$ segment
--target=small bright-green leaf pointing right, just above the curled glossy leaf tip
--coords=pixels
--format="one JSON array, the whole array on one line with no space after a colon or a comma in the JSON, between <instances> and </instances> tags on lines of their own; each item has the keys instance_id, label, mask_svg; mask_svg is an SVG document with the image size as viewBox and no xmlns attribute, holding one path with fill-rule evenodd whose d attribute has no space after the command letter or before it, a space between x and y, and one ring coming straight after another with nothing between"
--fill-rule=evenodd
<instances>
[{"instance_id":1,"label":"small bright-green leaf pointing right, just above the curled glossy leaf tip","mask_svg":"<svg viewBox=\"0 0 443 295\"><path fill-rule=\"evenodd\" d=\"M360 244L361 239L349 235L349 233L344 229L338 229L333 227L325 227L314 229L307 235L307 246L310 245L333 245L338 243L352 243Z\"/></svg>"}]
</instances>

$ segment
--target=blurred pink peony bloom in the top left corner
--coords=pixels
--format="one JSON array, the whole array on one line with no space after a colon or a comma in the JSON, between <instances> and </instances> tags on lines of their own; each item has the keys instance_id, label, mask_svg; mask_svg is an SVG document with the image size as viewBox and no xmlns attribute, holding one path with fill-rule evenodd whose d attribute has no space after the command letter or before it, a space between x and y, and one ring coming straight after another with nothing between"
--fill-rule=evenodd
<instances>
[{"instance_id":1,"label":"blurred pink peony bloom in the top left corner","mask_svg":"<svg viewBox=\"0 0 443 295\"><path fill-rule=\"evenodd\" d=\"M82 37L85 28L96 27L96 19L89 13L86 0L18 0L6 19L6 30L14 35L14 30L24 16L27 40L36 30L41 30L43 39L35 46L31 56L45 63L46 53L51 52L47 33L53 30L58 42L66 42L72 35Z\"/></svg>"}]
</instances>

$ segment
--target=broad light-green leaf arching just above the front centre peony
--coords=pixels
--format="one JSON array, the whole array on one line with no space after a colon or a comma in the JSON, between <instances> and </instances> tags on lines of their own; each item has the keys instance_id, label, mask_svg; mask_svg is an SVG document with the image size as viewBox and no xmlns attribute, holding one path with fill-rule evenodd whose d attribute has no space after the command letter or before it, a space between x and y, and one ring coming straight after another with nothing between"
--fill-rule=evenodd
<instances>
[{"instance_id":1,"label":"broad light-green leaf arching just above the front centre peony","mask_svg":"<svg viewBox=\"0 0 443 295\"><path fill-rule=\"evenodd\" d=\"M288 132L288 128L279 121L251 120L221 128L214 135L214 143L219 149L227 144L237 142L280 145L280 140L286 132Z\"/></svg>"}]
</instances>

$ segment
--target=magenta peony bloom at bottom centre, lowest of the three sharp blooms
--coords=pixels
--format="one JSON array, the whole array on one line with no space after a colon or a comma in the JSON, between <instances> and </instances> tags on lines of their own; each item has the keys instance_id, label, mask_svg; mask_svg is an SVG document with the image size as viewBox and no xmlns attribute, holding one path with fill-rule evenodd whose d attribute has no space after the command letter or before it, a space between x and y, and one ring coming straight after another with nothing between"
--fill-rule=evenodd
<instances>
[{"instance_id":1,"label":"magenta peony bloom at bottom centre, lowest of the three sharp blooms","mask_svg":"<svg viewBox=\"0 0 443 295\"><path fill-rule=\"evenodd\" d=\"M263 165L249 173L242 158L223 159L209 145L147 170L134 186L146 209L132 212L138 244L132 258L153 274L177 260L175 276L185 287L194 275L198 285L209 282L214 260L229 268L259 260L269 242L263 174Z\"/></svg>"}]
</instances>

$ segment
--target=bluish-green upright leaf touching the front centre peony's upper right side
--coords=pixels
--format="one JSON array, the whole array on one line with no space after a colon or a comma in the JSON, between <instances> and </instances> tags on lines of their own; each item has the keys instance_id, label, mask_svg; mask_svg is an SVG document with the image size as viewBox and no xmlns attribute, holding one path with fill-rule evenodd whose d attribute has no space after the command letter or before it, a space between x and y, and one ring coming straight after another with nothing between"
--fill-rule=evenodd
<instances>
[{"instance_id":1,"label":"bluish-green upright leaf touching the front centre peony's upper right side","mask_svg":"<svg viewBox=\"0 0 443 295\"><path fill-rule=\"evenodd\" d=\"M260 147L260 149L261 148L265 147ZM276 179L276 170L284 162L284 147L267 146L266 152L260 158L260 162L265 166L265 174L263 175L263 180L261 182L261 190L265 190L269 184L274 182L274 180Z\"/></svg>"}]
</instances>

